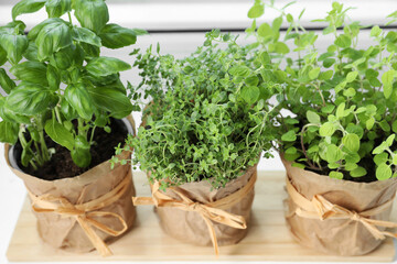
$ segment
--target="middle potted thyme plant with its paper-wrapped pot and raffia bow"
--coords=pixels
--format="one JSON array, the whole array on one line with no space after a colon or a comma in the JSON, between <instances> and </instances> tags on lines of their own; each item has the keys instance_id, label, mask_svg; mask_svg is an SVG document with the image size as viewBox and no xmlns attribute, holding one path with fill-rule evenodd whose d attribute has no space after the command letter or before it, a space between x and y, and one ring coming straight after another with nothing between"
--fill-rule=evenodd
<instances>
[{"instance_id":1,"label":"middle potted thyme plant with its paper-wrapped pot and raffia bow","mask_svg":"<svg viewBox=\"0 0 397 264\"><path fill-rule=\"evenodd\" d=\"M260 94L258 76L248 70L249 48L219 31L206 37L183 59L151 50L138 54L142 82L131 91L153 102L137 138L118 153L133 148L132 163L148 173L152 197L135 204L155 205L169 235L213 244L218 253L218 244L235 244L247 233L257 163L271 147L271 95Z\"/></svg>"}]
</instances>

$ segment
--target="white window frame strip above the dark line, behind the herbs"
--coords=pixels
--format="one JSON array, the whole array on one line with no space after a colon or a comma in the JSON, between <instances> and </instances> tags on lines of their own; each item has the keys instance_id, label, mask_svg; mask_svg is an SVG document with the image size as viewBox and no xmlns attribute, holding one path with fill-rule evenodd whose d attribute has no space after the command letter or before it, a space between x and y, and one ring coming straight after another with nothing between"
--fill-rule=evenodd
<instances>
[{"instance_id":1,"label":"white window frame strip above the dark line, behind the herbs","mask_svg":"<svg viewBox=\"0 0 397 264\"><path fill-rule=\"evenodd\" d=\"M180 0L141 0L133 2L108 1L111 22L126 28L141 28L146 30L211 30L217 29L246 29L250 24L247 12L254 1L180 1ZM277 1L280 7L289 1ZM363 25L386 23L386 16L397 10L396 0L344 0L346 7L358 7L348 12L353 21L361 21ZM321 23L310 22L322 18L330 10L331 1L300 0L288 8L294 16L298 16L303 8L307 8L302 24L322 26ZM11 4L0 3L0 24L11 21ZM275 11L267 10L261 21L271 21L277 16ZM25 14L21 19L31 29L39 21L46 19L42 10L35 14Z\"/></svg>"}]
</instances>

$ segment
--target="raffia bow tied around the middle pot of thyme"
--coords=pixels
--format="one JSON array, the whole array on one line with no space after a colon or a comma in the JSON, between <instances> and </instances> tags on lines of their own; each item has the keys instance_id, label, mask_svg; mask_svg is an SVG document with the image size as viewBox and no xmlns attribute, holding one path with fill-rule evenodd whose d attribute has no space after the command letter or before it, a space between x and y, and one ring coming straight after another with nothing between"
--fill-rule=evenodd
<instances>
[{"instance_id":1,"label":"raffia bow tied around the middle pot of thyme","mask_svg":"<svg viewBox=\"0 0 397 264\"><path fill-rule=\"evenodd\" d=\"M155 182L151 186L152 197L133 197L132 202L135 206L155 206L155 207L170 207L178 208L183 211L194 211L197 212L206 223L210 232L210 237L214 246L215 254L219 255L218 244L216 240L214 222L218 222L236 229L246 229L247 223L244 217L236 216L230 212L226 212L225 209L230 208L238 201L240 201L255 186L257 179L257 173L255 172L250 177L247 185L242 189L233 193L232 195L219 199L214 202L202 204L193 201L183 191L178 187L168 188L173 194L175 194L179 199L174 199L160 190L159 182Z\"/></svg>"}]
</instances>

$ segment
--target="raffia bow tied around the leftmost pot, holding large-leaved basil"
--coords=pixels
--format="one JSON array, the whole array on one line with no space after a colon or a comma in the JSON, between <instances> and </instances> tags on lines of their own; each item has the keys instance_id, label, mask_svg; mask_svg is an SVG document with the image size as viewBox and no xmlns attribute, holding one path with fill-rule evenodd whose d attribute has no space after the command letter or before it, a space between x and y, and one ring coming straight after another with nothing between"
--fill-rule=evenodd
<instances>
[{"instance_id":1,"label":"raffia bow tied around the leftmost pot, holding large-leaved basil","mask_svg":"<svg viewBox=\"0 0 397 264\"><path fill-rule=\"evenodd\" d=\"M99 238L99 235L94 231L93 228L96 228L109 235L118 237L127 231L128 226L126 221L117 213L108 211L98 211L101 208L110 206L116 202L128 189L131 184L131 176L128 173L127 177L120 182L112 190L105 194L104 196L83 204L83 198L85 189L82 191L82 195L77 199L76 205L73 205L64 197L55 197L53 195L42 195L35 196L30 190L28 190L29 196L32 200L32 209L35 212L53 212L65 218L75 218L78 224L82 227L89 241L93 243L95 249L100 253L101 256L111 255L110 249L106 243ZM112 217L117 219L121 226L121 230L114 230L107 227L104 223L95 220L95 217Z\"/></svg>"}]
</instances>

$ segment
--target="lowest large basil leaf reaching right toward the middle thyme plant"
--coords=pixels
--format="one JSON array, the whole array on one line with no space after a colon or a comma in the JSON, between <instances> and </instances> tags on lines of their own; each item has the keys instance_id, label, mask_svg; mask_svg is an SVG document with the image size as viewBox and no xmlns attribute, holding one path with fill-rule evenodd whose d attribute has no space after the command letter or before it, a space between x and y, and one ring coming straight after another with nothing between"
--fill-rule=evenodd
<instances>
[{"instance_id":1,"label":"lowest large basil leaf reaching right toward the middle thyme plant","mask_svg":"<svg viewBox=\"0 0 397 264\"><path fill-rule=\"evenodd\" d=\"M132 105L126 94L111 87L88 87L88 92L97 109L109 112L116 119L131 113Z\"/></svg>"}]
</instances>

